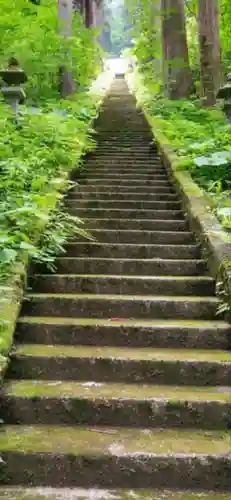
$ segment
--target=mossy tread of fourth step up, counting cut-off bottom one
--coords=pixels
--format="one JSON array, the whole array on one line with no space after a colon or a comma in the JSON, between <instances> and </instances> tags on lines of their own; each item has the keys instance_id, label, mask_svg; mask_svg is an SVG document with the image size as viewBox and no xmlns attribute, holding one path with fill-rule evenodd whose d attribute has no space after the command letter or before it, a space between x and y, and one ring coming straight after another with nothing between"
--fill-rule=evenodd
<instances>
[{"instance_id":1,"label":"mossy tread of fourth step up, counting cut-off bottom one","mask_svg":"<svg viewBox=\"0 0 231 500\"><path fill-rule=\"evenodd\" d=\"M230 362L231 353L206 349L155 349L126 347L19 344L16 354L45 357L95 357L127 360Z\"/></svg>"}]
</instances>

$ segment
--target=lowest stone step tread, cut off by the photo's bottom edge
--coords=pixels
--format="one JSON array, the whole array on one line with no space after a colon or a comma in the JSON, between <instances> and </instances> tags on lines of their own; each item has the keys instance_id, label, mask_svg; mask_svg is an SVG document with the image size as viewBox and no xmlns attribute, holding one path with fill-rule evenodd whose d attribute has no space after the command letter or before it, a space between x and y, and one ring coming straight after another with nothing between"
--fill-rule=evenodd
<instances>
[{"instance_id":1,"label":"lowest stone step tread, cut off by the photo's bottom edge","mask_svg":"<svg viewBox=\"0 0 231 500\"><path fill-rule=\"evenodd\" d=\"M214 491L102 490L99 488L0 487L1 500L230 500L230 493Z\"/></svg>"}]
</instances>

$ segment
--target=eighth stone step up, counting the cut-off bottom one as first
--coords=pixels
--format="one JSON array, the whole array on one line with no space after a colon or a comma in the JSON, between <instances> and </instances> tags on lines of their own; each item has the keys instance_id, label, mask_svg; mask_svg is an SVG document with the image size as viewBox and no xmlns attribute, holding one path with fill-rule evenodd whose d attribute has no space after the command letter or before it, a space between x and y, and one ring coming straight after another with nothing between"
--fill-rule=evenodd
<instances>
[{"instance_id":1,"label":"eighth stone step up, counting the cut-off bottom one as first","mask_svg":"<svg viewBox=\"0 0 231 500\"><path fill-rule=\"evenodd\" d=\"M60 257L57 274L101 274L141 276L198 276L207 272L202 259L114 259L100 257Z\"/></svg>"}]
</instances>

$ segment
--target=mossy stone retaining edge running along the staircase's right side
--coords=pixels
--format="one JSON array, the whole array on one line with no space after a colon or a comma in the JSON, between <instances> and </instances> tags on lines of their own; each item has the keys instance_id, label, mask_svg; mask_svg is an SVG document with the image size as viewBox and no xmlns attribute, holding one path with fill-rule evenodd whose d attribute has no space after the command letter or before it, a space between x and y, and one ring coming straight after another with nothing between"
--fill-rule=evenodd
<instances>
[{"instance_id":1,"label":"mossy stone retaining edge running along the staircase's right side","mask_svg":"<svg viewBox=\"0 0 231 500\"><path fill-rule=\"evenodd\" d=\"M212 213L209 198L193 181L189 172L179 169L178 157L166 144L164 134L155 126L155 118L150 117L145 110L143 112L152 129L169 178L181 196L183 210L189 220L190 228L202 245L209 271L217 282L223 282L226 300L231 308L231 236L222 229L218 219Z\"/></svg>"}]
</instances>

